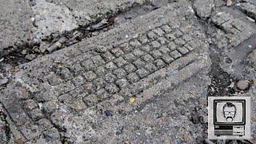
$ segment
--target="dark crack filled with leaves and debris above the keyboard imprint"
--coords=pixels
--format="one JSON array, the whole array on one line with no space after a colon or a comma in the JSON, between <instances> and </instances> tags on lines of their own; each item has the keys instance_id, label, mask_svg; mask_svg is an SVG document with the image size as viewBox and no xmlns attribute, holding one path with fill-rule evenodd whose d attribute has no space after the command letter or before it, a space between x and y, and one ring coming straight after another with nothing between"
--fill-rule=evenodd
<instances>
[{"instance_id":1,"label":"dark crack filled with leaves and debris above the keyboard imprint","mask_svg":"<svg viewBox=\"0 0 256 144\"><path fill-rule=\"evenodd\" d=\"M30 6L34 6L34 1L31 2ZM31 62L38 57L42 57L43 55L50 54L56 50L72 46L81 42L83 39L97 36L100 33L113 29L116 25L122 25L123 22L130 21L131 18L137 18L138 16L153 10L156 9L154 9L153 6L150 6L149 2L142 5L134 3L126 10L118 10L115 14L108 13L102 18L97 18L94 22L90 22L88 25L78 26L78 28L66 31L63 34L50 34L46 40L40 43L22 43L21 45L14 46L12 48L9 46L0 53L0 58L4 58L3 63L10 64L12 66L19 66L21 64ZM130 17L130 15L133 16ZM122 19L122 22L117 23L115 18ZM100 24L102 21L106 23Z\"/></svg>"}]
</instances>

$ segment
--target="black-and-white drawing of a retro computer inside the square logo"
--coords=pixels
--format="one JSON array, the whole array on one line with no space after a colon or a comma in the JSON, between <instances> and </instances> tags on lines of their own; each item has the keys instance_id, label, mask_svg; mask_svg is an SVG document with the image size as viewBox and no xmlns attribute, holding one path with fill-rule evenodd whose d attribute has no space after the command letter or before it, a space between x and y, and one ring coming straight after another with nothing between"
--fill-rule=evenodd
<instances>
[{"instance_id":1,"label":"black-and-white drawing of a retro computer inside the square logo","mask_svg":"<svg viewBox=\"0 0 256 144\"><path fill-rule=\"evenodd\" d=\"M214 100L214 135L244 136L246 125L246 100Z\"/></svg>"}]
</instances>

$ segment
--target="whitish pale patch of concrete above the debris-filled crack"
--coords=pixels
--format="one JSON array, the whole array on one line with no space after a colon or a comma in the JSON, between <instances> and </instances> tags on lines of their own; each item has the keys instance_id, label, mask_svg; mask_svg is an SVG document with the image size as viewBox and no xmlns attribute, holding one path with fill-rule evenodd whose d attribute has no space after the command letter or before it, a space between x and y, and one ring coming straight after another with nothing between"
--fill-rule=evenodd
<instances>
[{"instance_id":1,"label":"whitish pale patch of concrete above the debris-filled crack","mask_svg":"<svg viewBox=\"0 0 256 144\"><path fill-rule=\"evenodd\" d=\"M50 34L62 34L65 31L78 28L77 22L66 6L56 6L54 3L38 0L31 6L34 13L35 41L46 39Z\"/></svg>"}]
</instances>

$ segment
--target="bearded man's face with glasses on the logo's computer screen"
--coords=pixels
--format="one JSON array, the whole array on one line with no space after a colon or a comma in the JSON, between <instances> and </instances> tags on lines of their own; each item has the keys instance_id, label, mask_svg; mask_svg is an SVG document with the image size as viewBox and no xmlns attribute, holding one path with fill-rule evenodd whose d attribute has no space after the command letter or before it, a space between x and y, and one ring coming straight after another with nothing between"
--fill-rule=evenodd
<instances>
[{"instance_id":1,"label":"bearded man's face with glasses on the logo's computer screen","mask_svg":"<svg viewBox=\"0 0 256 144\"><path fill-rule=\"evenodd\" d=\"M237 108L233 103L226 102L223 106L223 116L226 119L226 122L233 122L236 115Z\"/></svg>"}]
</instances>

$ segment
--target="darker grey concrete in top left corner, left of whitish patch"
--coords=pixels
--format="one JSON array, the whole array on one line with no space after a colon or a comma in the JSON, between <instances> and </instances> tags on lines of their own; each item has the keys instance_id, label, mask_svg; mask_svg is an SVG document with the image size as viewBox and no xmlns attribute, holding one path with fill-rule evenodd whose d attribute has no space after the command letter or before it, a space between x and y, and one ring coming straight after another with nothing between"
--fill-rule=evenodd
<instances>
[{"instance_id":1,"label":"darker grey concrete in top left corner, left of whitish patch","mask_svg":"<svg viewBox=\"0 0 256 144\"><path fill-rule=\"evenodd\" d=\"M24 0L0 1L0 56L8 46L20 45L32 38L32 10Z\"/></svg>"}]
</instances>

